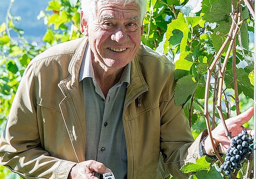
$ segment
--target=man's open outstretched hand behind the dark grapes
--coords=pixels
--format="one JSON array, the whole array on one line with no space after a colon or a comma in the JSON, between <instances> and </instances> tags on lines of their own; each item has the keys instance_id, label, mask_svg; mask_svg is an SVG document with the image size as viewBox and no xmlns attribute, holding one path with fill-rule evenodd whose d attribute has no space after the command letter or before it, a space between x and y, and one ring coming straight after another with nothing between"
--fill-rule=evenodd
<instances>
[{"instance_id":1,"label":"man's open outstretched hand behind the dark grapes","mask_svg":"<svg viewBox=\"0 0 256 179\"><path fill-rule=\"evenodd\" d=\"M246 123L252 118L253 114L254 108L250 107L247 111L241 113L240 115L225 120L228 131L231 132L232 137L241 133L243 129L245 129L249 134L253 135L254 131L252 129L247 129L242 126L244 123ZM212 137L215 139L216 142L220 144L217 146L217 144L214 141L218 151L220 153L226 153L226 150L230 148L230 140L225 134L225 130L222 123L220 123L214 130L212 130ZM213 149L209 136L204 141L204 149L206 150L206 153L208 155L213 155L211 153Z\"/></svg>"}]
</instances>

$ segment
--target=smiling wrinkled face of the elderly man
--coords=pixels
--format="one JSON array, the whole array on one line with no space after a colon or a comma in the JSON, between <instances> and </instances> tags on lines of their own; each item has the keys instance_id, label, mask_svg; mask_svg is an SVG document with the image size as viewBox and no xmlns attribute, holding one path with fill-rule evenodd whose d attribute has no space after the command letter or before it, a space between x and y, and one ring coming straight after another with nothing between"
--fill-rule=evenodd
<instances>
[{"instance_id":1,"label":"smiling wrinkled face of the elderly man","mask_svg":"<svg viewBox=\"0 0 256 179\"><path fill-rule=\"evenodd\" d=\"M81 12L81 30L88 36L92 60L107 69L120 69L132 61L143 33L140 8L134 2L125 6L109 0L98 2L96 17L86 22Z\"/></svg>"}]
</instances>

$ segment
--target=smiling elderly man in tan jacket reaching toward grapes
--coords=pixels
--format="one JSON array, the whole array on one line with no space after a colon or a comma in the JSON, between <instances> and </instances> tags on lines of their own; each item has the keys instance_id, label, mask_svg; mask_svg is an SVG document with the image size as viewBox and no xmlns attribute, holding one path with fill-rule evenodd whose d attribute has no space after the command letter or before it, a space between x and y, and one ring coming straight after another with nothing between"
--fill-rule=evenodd
<instances>
[{"instance_id":1,"label":"smiling elderly man in tan jacket reaching toward grapes","mask_svg":"<svg viewBox=\"0 0 256 179\"><path fill-rule=\"evenodd\" d=\"M0 141L2 165L31 179L188 177L179 169L200 157L207 133L194 141L174 104L174 65L140 43L146 3L82 0L85 37L46 50L24 73ZM229 119L232 134L252 113ZM221 125L213 134L228 145Z\"/></svg>"}]
</instances>

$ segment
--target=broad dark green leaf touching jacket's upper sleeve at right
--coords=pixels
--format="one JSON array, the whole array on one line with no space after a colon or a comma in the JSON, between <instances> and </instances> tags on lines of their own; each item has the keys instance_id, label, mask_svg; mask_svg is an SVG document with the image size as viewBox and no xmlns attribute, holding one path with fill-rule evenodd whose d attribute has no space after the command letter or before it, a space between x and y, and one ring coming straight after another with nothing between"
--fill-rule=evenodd
<instances>
[{"instance_id":1,"label":"broad dark green leaf touching jacket's upper sleeve at right","mask_svg":"<svg viewBox=\"0 0 256 179\"><path fill-rule=\"evenodd\" d=\"M194 82L192 78L192 75L188 75L178 80L174 90L174 100L176 105L186 103L196 90L198 84Z\"/></svg>"}]
</instances>

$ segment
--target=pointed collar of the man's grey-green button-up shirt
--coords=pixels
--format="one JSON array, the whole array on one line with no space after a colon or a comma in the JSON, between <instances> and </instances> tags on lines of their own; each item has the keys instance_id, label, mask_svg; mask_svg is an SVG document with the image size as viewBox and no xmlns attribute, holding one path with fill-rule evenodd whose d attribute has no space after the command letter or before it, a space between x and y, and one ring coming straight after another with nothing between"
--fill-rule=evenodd
<instances>
[{"instance_id":1,"label":"pointed collar of the man's grey-green button-up shirt","mask_svg":"<svg viewBox=\"0 0 256 179\"><path fill-rule=\"evenodd\" d=\"M117 85L116 87L122 85L124 82L127 83L127 87L128 87L130 84L130 74L131 74L131 62L125 66L122 76L119 82L116 84ZM90 49L89 43L87 43L86 45L82 64L80 67L79 82L82 82L84 78L88 78L88 77L95 80L94 71L92 68L91 49Z\"/></svg>"}]
</instances>

